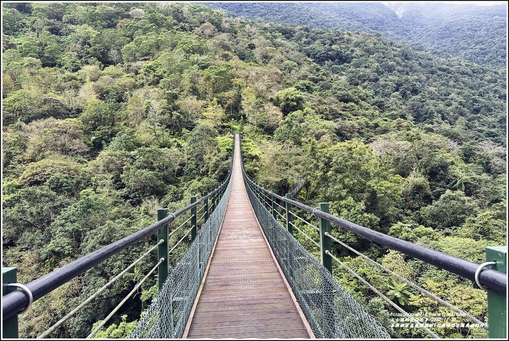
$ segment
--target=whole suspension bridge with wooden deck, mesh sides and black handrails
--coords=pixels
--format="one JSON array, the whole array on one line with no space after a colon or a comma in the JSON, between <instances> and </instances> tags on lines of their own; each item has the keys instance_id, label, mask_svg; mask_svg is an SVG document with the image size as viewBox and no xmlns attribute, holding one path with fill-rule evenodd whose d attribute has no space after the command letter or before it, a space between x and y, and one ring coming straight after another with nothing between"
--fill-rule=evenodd
<instances>
[{"instance_id":1,"label":"whole suspension bridge with wooden deck, mesh sides and black handrails","mask_svg":"<svg viewBox=\"0 0 509 341\"><path fill-rule=\"evenodd\" d=\"M153 247L38 338L54 335L82 306L156 249L152 270L88 338L156 271L159 292L131 338L390 338L386 328L333 278L333 261L398 310L409 324L438 337L432 326L416 320L333 255L332 242L461 314L472 326L489 329L490 337L506 336L506 247L487 248L487 262L478 265L367 229L330 215L328 203L309 207L291 194L283 197L264 189L243 169L239 135L235 135L233 151L230 173L216 189L201 198L192 197L179 211L159 209L156 223L26 285L16 282L15 269L3 268L3 337L17 338L17 316L33 301L154 234ZM318 226L296 214L296 209L316 216ZM182 222L184 214L189 216ZM176 226L177 222L181 224ZM477 283L479 290L488 291L489 327L334 238L330 223ZM302 224L315 229L320 240L303 231ZM294 233L316 245L321 259L307 252ZM179 238L175 245L169 245L172 235ZM189 249L170 269L169 255L186 238L191 240Z\"/></svg>"}]
</instances>

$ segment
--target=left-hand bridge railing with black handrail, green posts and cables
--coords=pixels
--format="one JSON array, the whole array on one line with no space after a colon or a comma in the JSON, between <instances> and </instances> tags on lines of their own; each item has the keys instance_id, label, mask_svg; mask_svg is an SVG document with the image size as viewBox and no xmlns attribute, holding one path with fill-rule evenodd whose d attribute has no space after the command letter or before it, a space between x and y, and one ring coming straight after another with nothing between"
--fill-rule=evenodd
<instances>
[{"instance_id":1,"label":"left-hand bridge railing with black handrail, green posts and cables","mask_svg":"<svg viewBox=\"0 0 509 341\"><path fill-rule=\"evenodd\" d=\"M229 193L229 189L231 187L231 175L233 169L233 154L235 148L232 148L231 160L230 160L230 171L227 177L214 189L210 191L210 193L204 192L201 198L191 197L190 204L178 209L173 213L167 213L167 208L158 209L157 219L158 221L153 223L152 225L145 227L142 230L139 230L135 233L128 235L125 238L122 238L114 243L111 243L103 248L91 252L87 255L84 255L71 263L58 268L26 285L17 283L16 281L16 268L2 268L2 281L3 281L3 297L2 297L2 337L3 338L17 338L18 337L18 314L25 312L30 309L33 302L40 299L41 297L47 295L52 292L56 288L62 286L63 284L69 282L73 278L79 276L87 270L92 269L96 265L100 264L102 261L118 254L122 250L125 250L136 243L143 241L144 239L154 237L154 234L157 233L157 242L153 245L149 250L147 250L143 255L141 255L138 259L136 259L132 264L126 267L121 273L112 278L108 283L106 283L103 287L101 287L95 294L91 297L84 300L81 304L79 304L76 308L71 310L66 316L64 316L60 321L53 324L49 329L47 329L44 333L38 336L38 338L43 338L47 336L53 335L56 330L58 330L62 324L70 319L80 308L92 302L97 296L99 296L108 286L114 283L116 280L120 279L124 274L126 274L130 269L132 269L136 264L139 263L143 258L150 256L152 252L157 249L157 263L154 265L152 270L135 285L133 290L127 295L124 300L120 302L120 304L106 317L102 320L102 322L88 335L88 338L92 337L97 331L99 331L107 321L118 311L118 309L133 295L135 294L139 287L145 282L152 273L157 270L158 277L158 288L161 291L165 282L167 282L168 272L169 276L172 276L172 273L176 271L176 269L182 268L183 264L188 264L187 258L189 258L189 254L199 254L200 248L204 247L204 245L210 244L210 240L215 240L215 236L217 234L217 226L220 224L220 219L224 214L224 210L221 208L221 203L224 201L224 198L228 197L227 192ZM222 204L224 205L224 204ZM221 208L221 209L218 209ZM185 219L185 214L188 214L189 217ZM180 219L179 219L180 218ZM218 223L219 221L219 223ZM174 223L174 224L172 224ZM168 230L169 224L171 226L176 226ZM206 231L206 232L204 232ZM184 232L184 233L182 233ZM207 234L208 233L208 234ZM215 233L215 234L214 234ZM207 239L209 242L204 242L206 240L205 234L207 234ZM172 244L168 245L168 242L171 241L170 237L172 235L178 235L179 240ZM200 238L197 236L200 235ZM183 245L183 242L188 240L191 242L191 246L184 254L182 259L173 267L172 271L169 271L168 258L169 255L176 250L177 247ZM203 267L203 264L207 264L208 255L206 254L209 251L202 251L200 256L200 264ZM205 263L204 263L205 262ZM192 269L188 269L187 272L191 273ZM178 270L177 270L178 271ZM200 270L201 271L201 270ZM203 276L203 273L202 273ZM172 277L172 280L175 278ZM182 278L181 281L186 281L186 278ZM175 284L175 282L174 282ZM178 281L176 285L182 286ZM185 287L185 286L183 286ZM194 299L194 298L193 298ZM192 302L191 302L192 305ZM184 307L187 309L187 307ZM180 311L180 313L185 314L185 309L178 308L176 311ZM189 309L190 311L190 309ZM189 312L187 312L189 313ZM185 321L184 321L185 324ZM177 336L178 337L178 336Z\"/></svg>"}]
</instances>

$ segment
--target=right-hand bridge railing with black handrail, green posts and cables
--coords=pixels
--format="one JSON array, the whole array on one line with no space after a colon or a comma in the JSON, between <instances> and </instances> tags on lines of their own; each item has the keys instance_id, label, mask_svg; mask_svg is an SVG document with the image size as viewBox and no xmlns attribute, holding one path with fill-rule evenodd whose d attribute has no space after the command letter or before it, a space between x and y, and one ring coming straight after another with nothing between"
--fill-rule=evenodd
<instances>
[{"instance_id":1,"label":"right-hand bridge railing with black handrail, green posts and cables","mask_svg":"<svg viewBox=\"0 0 509 341\"><path fill-rule=\"evenodd\" d=\"M457 258L436 250L432 250L417 244L413 244L407 241L400 240L398 238L391 237L389 235L386 235L384 233L354 224L352 222L349 222L347 220L344 220L342 218L333 216L329 214L329 203L320 203L318 207L311 207L308 205L305 205L301 202L298 202L296 200L292 199L291 194L286 194L285 196L280 196L274 193L274 191L267 190L263 188L262 186L258 185L253 179L251 179L244 169L244 163L242 163L242 170L243 170L243 177L244 182L246 185L246 189L249 194L249 198L251 200L251 204L255 208L255 211L257 212L259 220L262 221L260 224L262 227L264 225L274 225L274 223L277 223L276 225L272 226L271 229L267 229L267 231L264 232L269 233L277 233L281 234L286 230L287 232L287 238L288 236L293 236L294 230L296 230L298 233L300 233L303 237L306 243L310 243L309 245L316 246L317 249L320 252L320 260L322 266L327 269L328 273L332 273L332 261L334 260L337 264L344 267L347 271L352 273L355 277L357 277L361 282L363 282L365 285L369 286L375 293L377 293L379 296L382 297L388 304L392 305L395 309L400 311L403 316L408 318L408 321L411 321L415 324L415 326L421 327L423 330L425 330L428 334L430 334L432 337L438 337L435 333L433 333L425 324L419 323L413 316L408 314L406 311L404 311L400 306L392 302L390 299L388 299L385 295L380 293L376 288L374 288L370 283L365 281L363 278L361 278L359 275L357 275L352 269L350 269L346 264L344 264L340 259L338 259L336 256L334 256L331 253L331 244L332 243L338 243L342 245L343 247L349 249L350 251L353 251L366 259L367 261L370 261L370 263L375 264L376 266L380 267L382 270L386 271L390 275L404 281L405 283L409 284L410 286L416 288L419 292L422 294L425 294L429 296L430 298L436 300L440 304L453 309L456 311L459 316L462 316L472 322L472 325L475 325L475 327L484 327L485 329L489 329L489 335L490 337L494 338L505 338L506 337L506 283L507 283L507 277L505 274L506 271L506 253L507 253L507 247L491 247L487 248L487 263L483 264L474 264L467 260ZM300 217L298 214L296 214L296 211L304 211L308 212L310 214L313 214L318 218L319 226L316 226L304 218ZM270 217L271 219L269 219ZM316 241L315 238L310 237L309 233L306 233L306 231L303 231L302 228L299 228L299 225L296 222L299 221L299 223L303 223L305 226L309 226L310 230L316 230L316 233L319 236L319 241ZM263 223L262 223L263 222ZM471 281L474 281L477 283L477 285L480 288L484 288L488 292L488 314L491 322L491 328L488 328L488 324L483 323L479 320L477 320L475 317L470 316L469 314L465 313L464 311L454 307L453 305L447 303L446 301L440 299L439 297L435 296L434 294L424 290L423 288L417 286L416 284L406 280L402 276L395 274L394 272L390 271L389 269L381 266L380 264L373 261L371 258L359 253L357 250L354 250L350 248L348 245L343 243L340 240L337 240L331 235L330 232L330 223L333 223L337 226L340 226L341 228L344 228L346 230L349 230L357 235L361 235L362 237L369 239L375 243L378 243L380 245L386 246L389 249L400 251L408 256L420 259L422 261L425 261L428 264L434 265L440 269L444 269L448 272L455 273L463 278L467 278ZM285 228L282 228L282 225L284 225ZM274 229L276 232L273 232L272 229ZM277 249L285 249L284 244L280 244L278 241L285 239L284 237L281 237L279 235L278 238L271 239L269 236L267 236L269 239L269 242L271 242L271 246L273 248L274 253L276 254L276 257L278 257L278 253L283 252L280 254L280 258L278 258L278 261L280 263L281 268L284 270L285 275L287 276L287 279L289 280L290 284L292 285L292 282L294 282L294 272L295 272L295 266L296 263L288 263L288 260L290 259L290 253L287 251L280 251ZM292 237L293 238L293 237ZM272 245L274 243L274 245ZM286 242L288 243L288 241ZM286 254L284 252L287 252ZM287 264L289 264L287 266ZM493 269L490 269L488 267L492 267ZM286 271L285 271L286 269ZM292 288L296 290L297 292L302 290L301 288L294 288L292 285ZM296 293L297 296L297 293ZM305 302L305 299L303 301L299 301L299 303L304 306L306 306L308 303ZM308 309L309 310L309 309ZM306 309L304 309L304 312ZM307 315L306 315L307 317ZM313 320L313 318L312 318ZM315 319L316 320L316 319ZM312 322L310 322L312 323ZM313 328L313 326L312 326ZM326 330L327 327L324 326L316 326L319 330ZM315 329L314 329L315 331ZM323 337L344 337L341 334L337 336L330 336L331 331L329 331L329 336L323 336ZM320 335L320 332L316 332L317 335ZM325 333L327 335L327 333Z\"/></svg>"}]
</instances>

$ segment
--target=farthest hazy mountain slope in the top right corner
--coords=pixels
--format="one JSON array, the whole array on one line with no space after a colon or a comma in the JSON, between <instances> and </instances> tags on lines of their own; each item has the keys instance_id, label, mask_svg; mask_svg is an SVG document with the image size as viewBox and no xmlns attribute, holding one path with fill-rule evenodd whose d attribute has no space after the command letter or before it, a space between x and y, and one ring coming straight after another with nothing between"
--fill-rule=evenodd
<instances>
[{"instance_id":1,"label":"farthest hazy mountain slope in the top right corner","mask_svg":"<svg viewBox=\"0 0 509 341\"><path fill-rule=\"evenodd\" d=\"M388 3L419 42L467 61L507 67L507 6ZM416 38L414 38L416 39Z\"/></svg>"}]
</instances>

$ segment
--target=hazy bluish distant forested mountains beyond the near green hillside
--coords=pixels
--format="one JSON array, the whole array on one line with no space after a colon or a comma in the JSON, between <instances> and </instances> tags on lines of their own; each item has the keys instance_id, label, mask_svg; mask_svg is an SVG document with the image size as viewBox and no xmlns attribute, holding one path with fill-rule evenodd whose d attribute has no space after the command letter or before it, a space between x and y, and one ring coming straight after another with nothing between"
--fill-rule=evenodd
<instances>
[{"instance_id":1,"label":"hazy bluish distant forested mountains beyond the near green hillside","mask_svg":"<svg viewBox=\"0 0 509 341\"><path fill-rule=\"evenodd\" d=\"M433 3L207 3L250 19L380 33L494 68L506 67L507 6Z\"/></svg>"}]
</instances>

